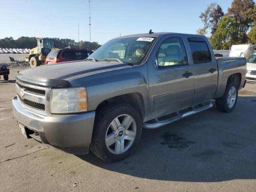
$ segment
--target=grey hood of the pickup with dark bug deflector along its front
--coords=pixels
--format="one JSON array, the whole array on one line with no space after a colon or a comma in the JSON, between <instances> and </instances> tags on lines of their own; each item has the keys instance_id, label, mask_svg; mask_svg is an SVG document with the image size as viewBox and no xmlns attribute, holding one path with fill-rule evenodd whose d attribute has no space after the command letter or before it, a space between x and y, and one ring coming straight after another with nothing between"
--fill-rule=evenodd
<instances>
[{"instance_id":1,"label":"grey hood of the pickup with dark bug deflector along its front","mask_svg":"<svg viewBox=\"0 0 256 192\"><path fill-rule=\"evenodd\" d=\"M22 70L16 78L44 87L70 87L68 80L72 78L125 67L130 66L118 62L64 62Z\"/></svg>"}]
</instances>

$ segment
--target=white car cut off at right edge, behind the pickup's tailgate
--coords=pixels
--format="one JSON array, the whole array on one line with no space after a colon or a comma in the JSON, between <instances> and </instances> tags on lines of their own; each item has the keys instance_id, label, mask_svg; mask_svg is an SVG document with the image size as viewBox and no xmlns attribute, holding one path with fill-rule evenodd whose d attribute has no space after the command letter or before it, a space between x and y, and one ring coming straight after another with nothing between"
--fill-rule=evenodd
<instances>
[{"instance_id":1,"label":"white car cut off at right edge, behind the pickup's tailgate","mask_svg":"<svg viewBox=\"0 0 256 192\"><path fill-rule=\"evenodd\" d=\"M246 80L256 83L256 53L252 54L248 59L246 68Z\"/></svg>"}]
</instances>

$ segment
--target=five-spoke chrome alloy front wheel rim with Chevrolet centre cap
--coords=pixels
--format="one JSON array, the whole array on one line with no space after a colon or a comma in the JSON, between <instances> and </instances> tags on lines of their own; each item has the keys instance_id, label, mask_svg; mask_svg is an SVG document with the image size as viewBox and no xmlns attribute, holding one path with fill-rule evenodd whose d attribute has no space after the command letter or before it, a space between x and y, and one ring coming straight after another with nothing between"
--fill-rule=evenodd
<instances>
[{"instance_id":1,"label":"five-spoke chrome alloy front wheel rim with Chevrolet centre cap","mask_svg":"<svg viewBox=\"0 0 256 192\"><path fill-rule=\"evenodd\" d=\"M133 144L136 137L136 122L132 116L122 114L108 126L105 143L112 154L122 154Z\"/></svg>"}]
</instances>

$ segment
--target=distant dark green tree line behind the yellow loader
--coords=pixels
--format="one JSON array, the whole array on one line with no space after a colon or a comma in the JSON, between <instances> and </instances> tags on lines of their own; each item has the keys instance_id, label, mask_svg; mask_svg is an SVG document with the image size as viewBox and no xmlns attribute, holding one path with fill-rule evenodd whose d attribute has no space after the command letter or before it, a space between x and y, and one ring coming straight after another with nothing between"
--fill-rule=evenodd
<instances>
[{"instance_id":1,"label":"distant dark green tree line behind the yellow loader","mask_svg":"<svg viewBox=\"0 0 256 192\"><path fill-rule=\"evenodd\" d=\"M34 48L37 46L36 37L20 37L14 40L12 37L6 37L4 39L0 39L0 48ZM56 48L65 48L67 46L71 46L71 48L81 48L81 49L89 49L96 50L101 45L98 42L88 42L88 41L80 41L75 42L72 39L55 39L55 47Z\"/></svg>"}]
</instances>

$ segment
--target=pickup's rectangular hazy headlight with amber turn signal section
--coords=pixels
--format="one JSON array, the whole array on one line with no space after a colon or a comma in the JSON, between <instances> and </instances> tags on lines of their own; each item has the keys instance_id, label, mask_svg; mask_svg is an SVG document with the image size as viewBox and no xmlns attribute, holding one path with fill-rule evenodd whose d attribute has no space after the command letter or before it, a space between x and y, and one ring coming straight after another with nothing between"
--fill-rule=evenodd
<instances>
[{"instance_id":1,"label":"pickup's rectangular hazy headlight with amber turn signal section","mask_svg":"<svg viewBox=\"0 0 256 192\"><path fill-rule=\"evenodd\" d=\"M52 89L51 113L87 111L87 94L84 87Z\"/></svg>"}]
</instances>

